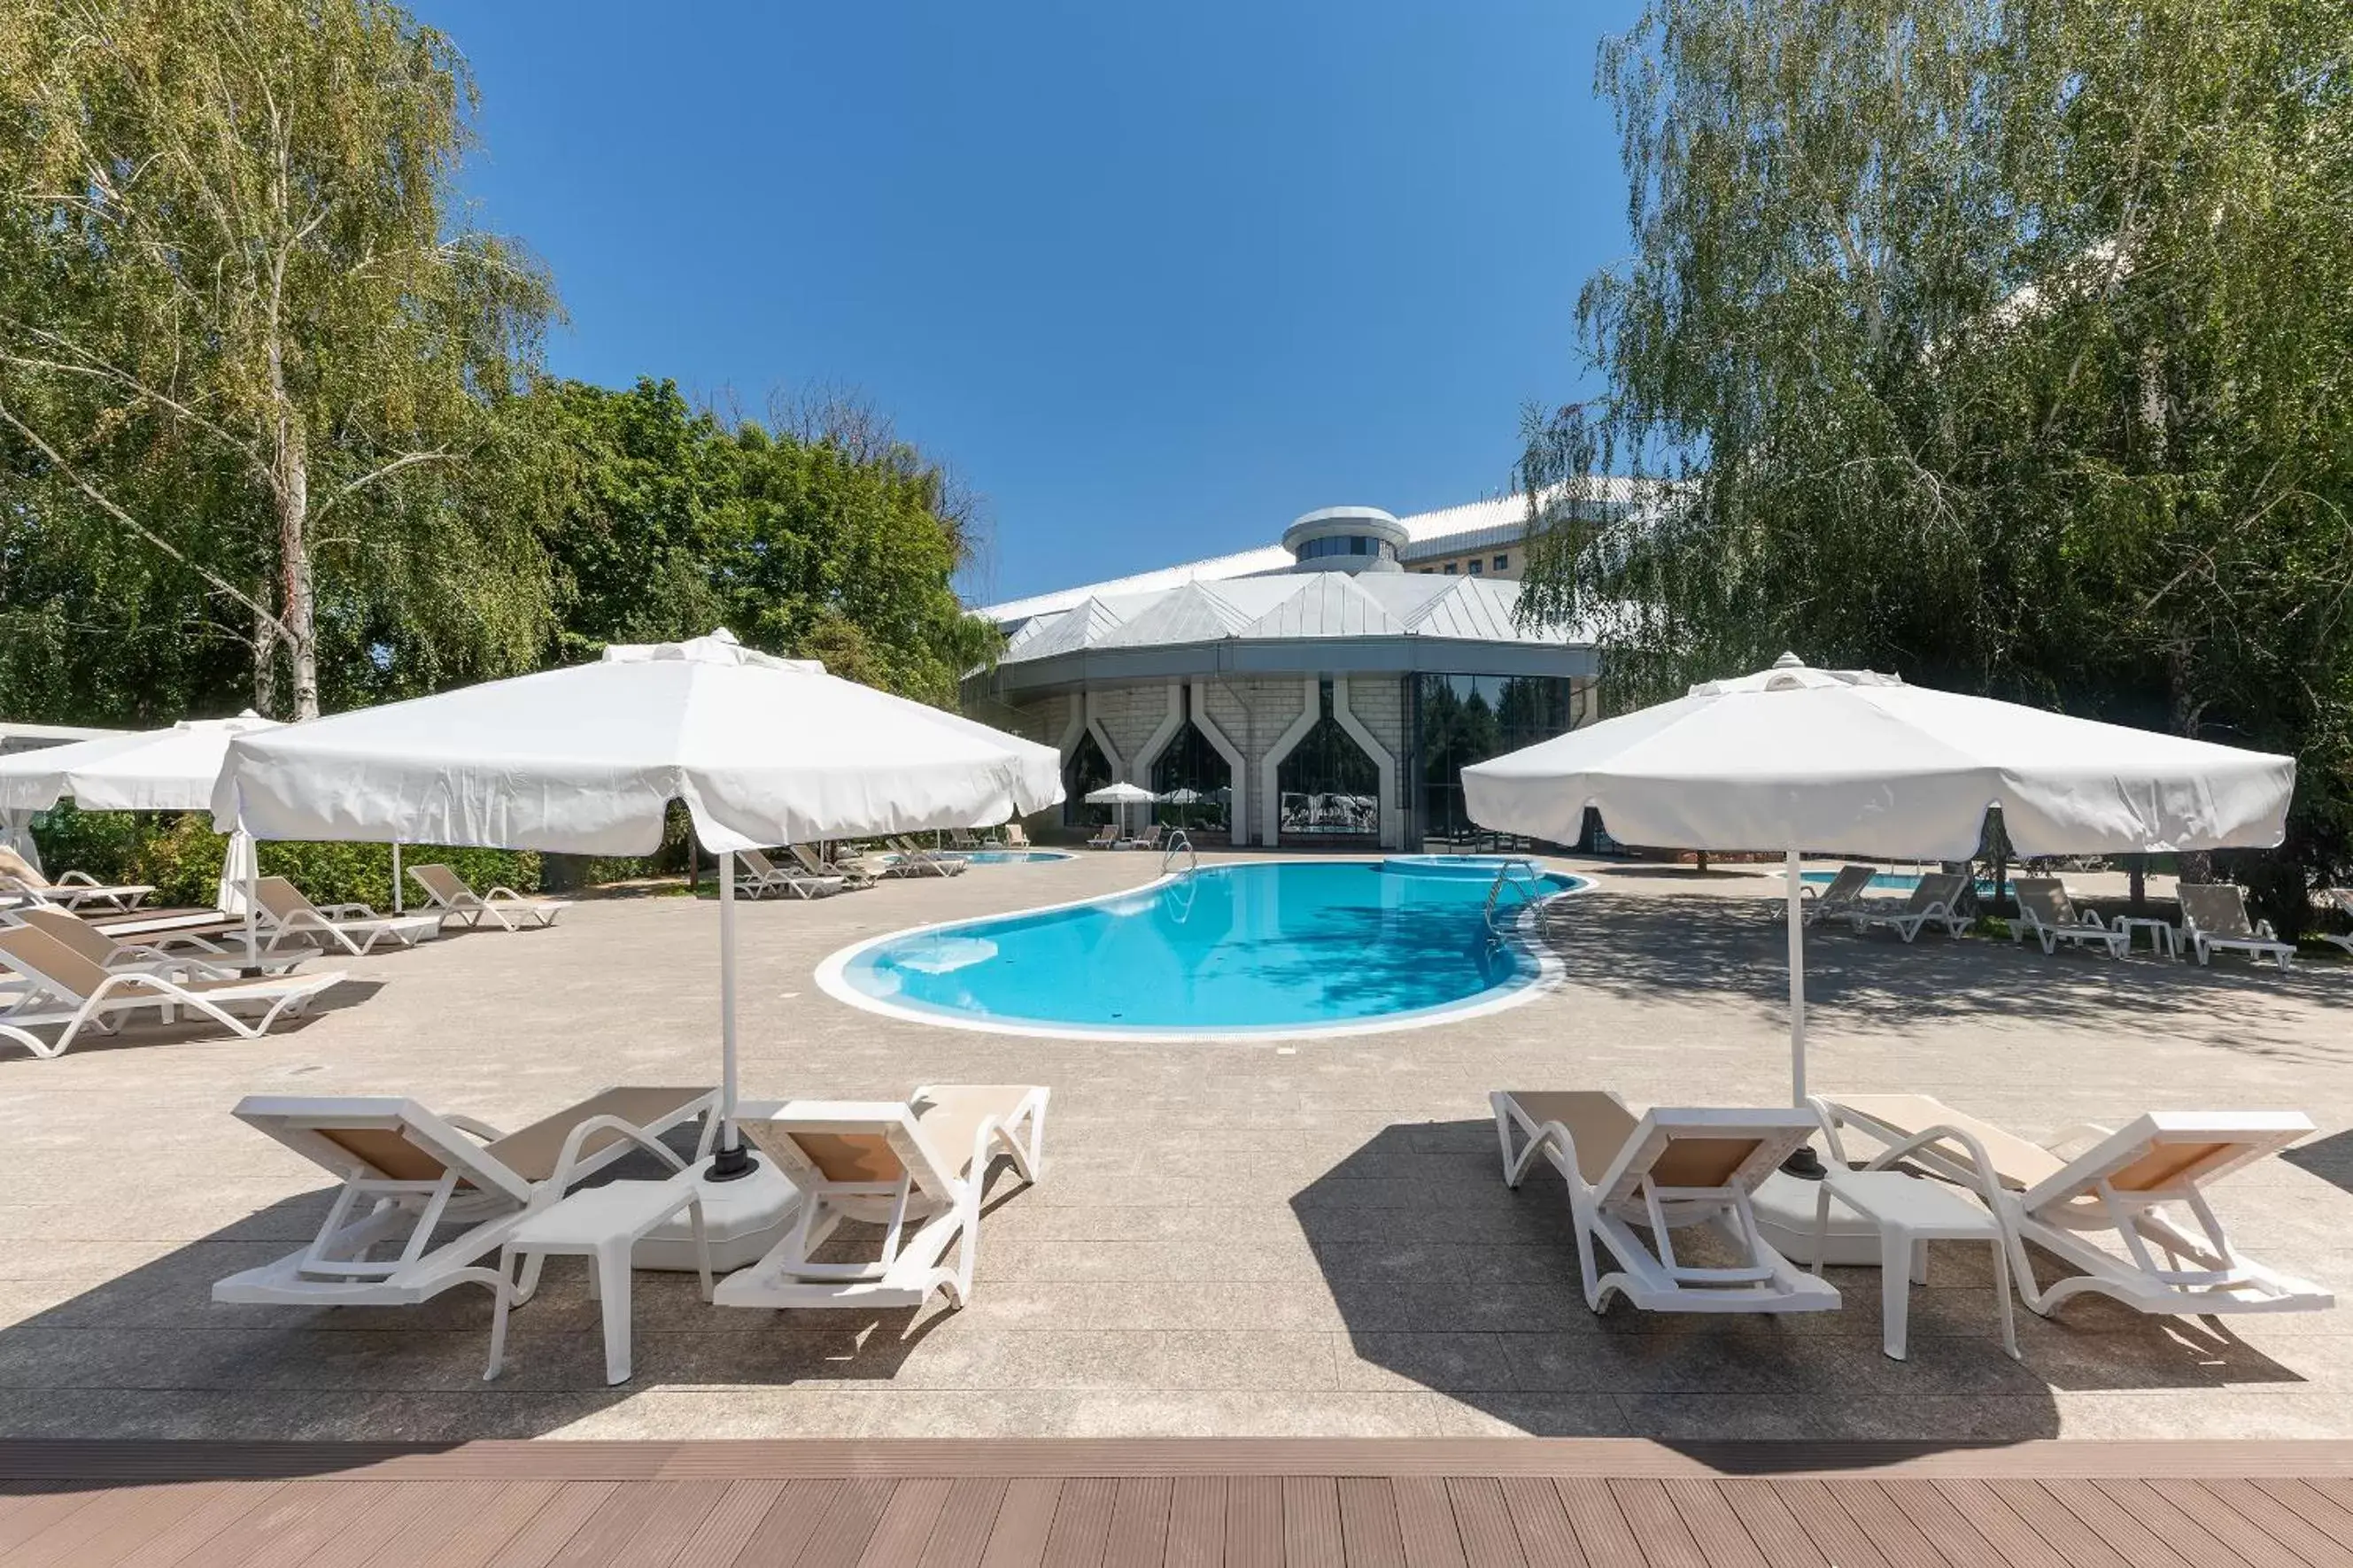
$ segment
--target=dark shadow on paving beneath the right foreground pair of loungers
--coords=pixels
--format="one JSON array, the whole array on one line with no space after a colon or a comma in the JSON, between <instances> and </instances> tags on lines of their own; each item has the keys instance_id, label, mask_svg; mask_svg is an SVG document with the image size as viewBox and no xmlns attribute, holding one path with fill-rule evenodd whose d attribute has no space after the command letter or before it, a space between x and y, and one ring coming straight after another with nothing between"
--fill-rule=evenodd
<instances>
[{"instance_id":1,"label":"dark shadow on paving beneath the right foreground pair of loungers","mask_svg":"<svg viewBox=\"0 0 2353 1568\"><path fill-rule=\"evenodd\" d=\"M2061 1321L2019 1307L2012 1361L1991 1251L1958 1244L1913 1288L1908 1361L1880 1354L1878 1269L1828 1272L1840 1312L1595 1316L1560 1175L1504 1187L1489 1121L1384 1128L1292 1211L1367 1380L1539 1436L2024 1441L2059 1434L2061 1389L2301 1382L2214 1319L2104 1300ZM1678 1232L1685 1258L1692 1237Z\"/></svg>"}]
</instances>

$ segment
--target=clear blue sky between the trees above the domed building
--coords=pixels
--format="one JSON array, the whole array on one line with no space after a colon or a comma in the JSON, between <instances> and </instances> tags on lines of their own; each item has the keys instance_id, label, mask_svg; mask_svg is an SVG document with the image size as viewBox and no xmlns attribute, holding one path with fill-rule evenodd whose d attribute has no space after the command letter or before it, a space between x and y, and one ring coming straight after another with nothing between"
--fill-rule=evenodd
<instances>
[{"instance_id":1,"label":"clear blue sky between the trees above the domed building","mask_svg":"<svg viewBox=\"0 0 2353 1568\"><path fill-rule=\"evenodd\" d=\"M1494 494L1626 252L1626 0L414 0L560 374L854 386L988 496L976 597Z\"/></svg>"}]
</instances>

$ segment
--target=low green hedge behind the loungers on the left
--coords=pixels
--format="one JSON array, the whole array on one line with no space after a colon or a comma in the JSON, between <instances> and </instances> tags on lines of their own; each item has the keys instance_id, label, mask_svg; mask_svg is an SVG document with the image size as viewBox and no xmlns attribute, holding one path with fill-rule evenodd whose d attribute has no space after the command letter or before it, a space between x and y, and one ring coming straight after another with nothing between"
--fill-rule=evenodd
<instances>
[{"instance_id":1,"label":"low green hedge behind the loungers on the left","mask_svg":"<svg viewBox=\"0 0 2353 1568\"><path fill-rule=\"evenodd\" d=\"M49 875L85 870L99 882L148 882L151 903L209 905L221 884L228 839L212 830L202 811L75 811L71 802L33 818L33 842ZM445 849L405 844L405 865L440 860L485 891L492 884L518 893L539 889L539 856L513 849ZM261 844L261 875L285 877L311 903L393 903L393 851L388 844ZM409 905L426 903L414 882L402 889Z\"/></svg>"}]
</instances>

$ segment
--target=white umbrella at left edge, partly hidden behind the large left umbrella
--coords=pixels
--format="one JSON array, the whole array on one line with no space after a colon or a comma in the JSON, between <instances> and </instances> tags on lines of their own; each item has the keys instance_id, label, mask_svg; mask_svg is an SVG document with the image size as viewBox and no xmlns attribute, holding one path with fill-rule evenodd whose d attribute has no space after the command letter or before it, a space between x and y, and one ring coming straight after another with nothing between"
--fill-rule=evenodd
<instances>
[{"instance_id":1,"label":"white umbrella at left edge, partly hidden behind the large left umbrella","mask_svg":"<svg viewBox=\"0 0 2353 1568\"><path fill-rule=\"evenodd\" d=\"M228 743L264 729L280 724L247 710L0 757L0 811L47 811L66 797L82 811L209 811ZM252 875L254 842L233 832L216 907L242 910Z\"/></svg>"}]
</instances>

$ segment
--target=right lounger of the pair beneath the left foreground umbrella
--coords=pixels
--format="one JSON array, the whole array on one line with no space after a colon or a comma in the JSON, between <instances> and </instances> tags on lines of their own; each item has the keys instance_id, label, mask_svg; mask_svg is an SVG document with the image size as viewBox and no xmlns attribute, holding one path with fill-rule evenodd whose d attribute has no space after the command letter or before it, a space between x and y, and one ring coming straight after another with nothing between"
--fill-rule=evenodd
<instances>
[{"instance_id":1,"label":"right lounger of the pair beneath the left foreground umbrella","mask_svg":"<svg viewBox=\"0 0 2353 1568\"><path fill-rule=\"evenodd\" d=\"M988 1166L1024 1182L1045 1171L1045 1088L932 1084L908 1100L793 1100L741 1114L744 1133L800 1187L800 1218L769 1253L720 1281L722 1307L962 1305L981 1234ZM842 1220L882 1225L868 1262L819 1262ZM913 1234L911 1234L913 1232ZM948 1248L955 1248L953 1262Z\"/></svg>"}]
</instances>

